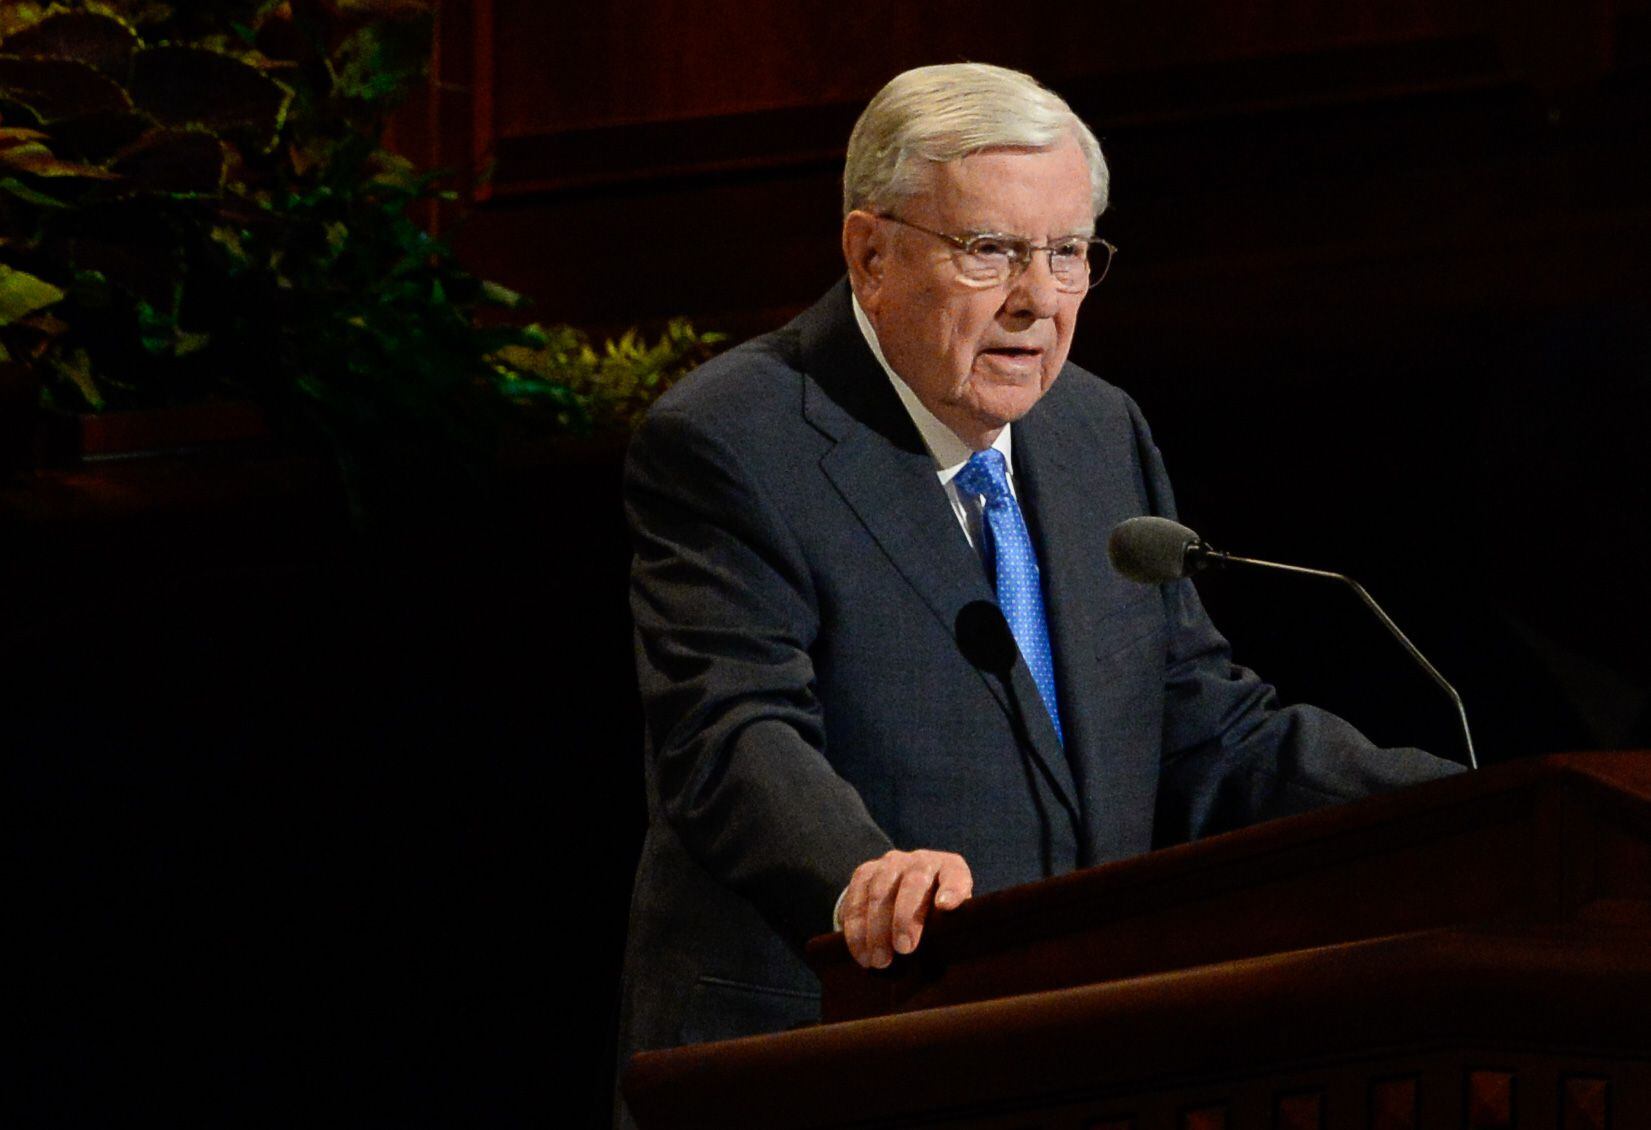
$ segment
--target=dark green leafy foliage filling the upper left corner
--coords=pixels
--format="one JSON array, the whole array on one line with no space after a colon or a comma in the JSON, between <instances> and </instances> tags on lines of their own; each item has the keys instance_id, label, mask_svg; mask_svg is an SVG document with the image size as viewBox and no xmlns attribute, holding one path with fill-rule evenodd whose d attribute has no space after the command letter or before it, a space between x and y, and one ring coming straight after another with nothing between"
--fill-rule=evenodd
<instances>
[{"instance_id":1,"label":"dark green leafy foliage filling the upper left corner","mask_svg":"<svg viewBox=\"0 0 1651 1130\"><path fill-rule=\"evenodd\" d=\"M523 405L631 423L717 335L672 322L596 350L479 319L523 302L413 221L446 193L380 144L433 8L0 10L0 360L76 411L253 398L352 458L474 446Z\"/></svg>"}]
</instances>

